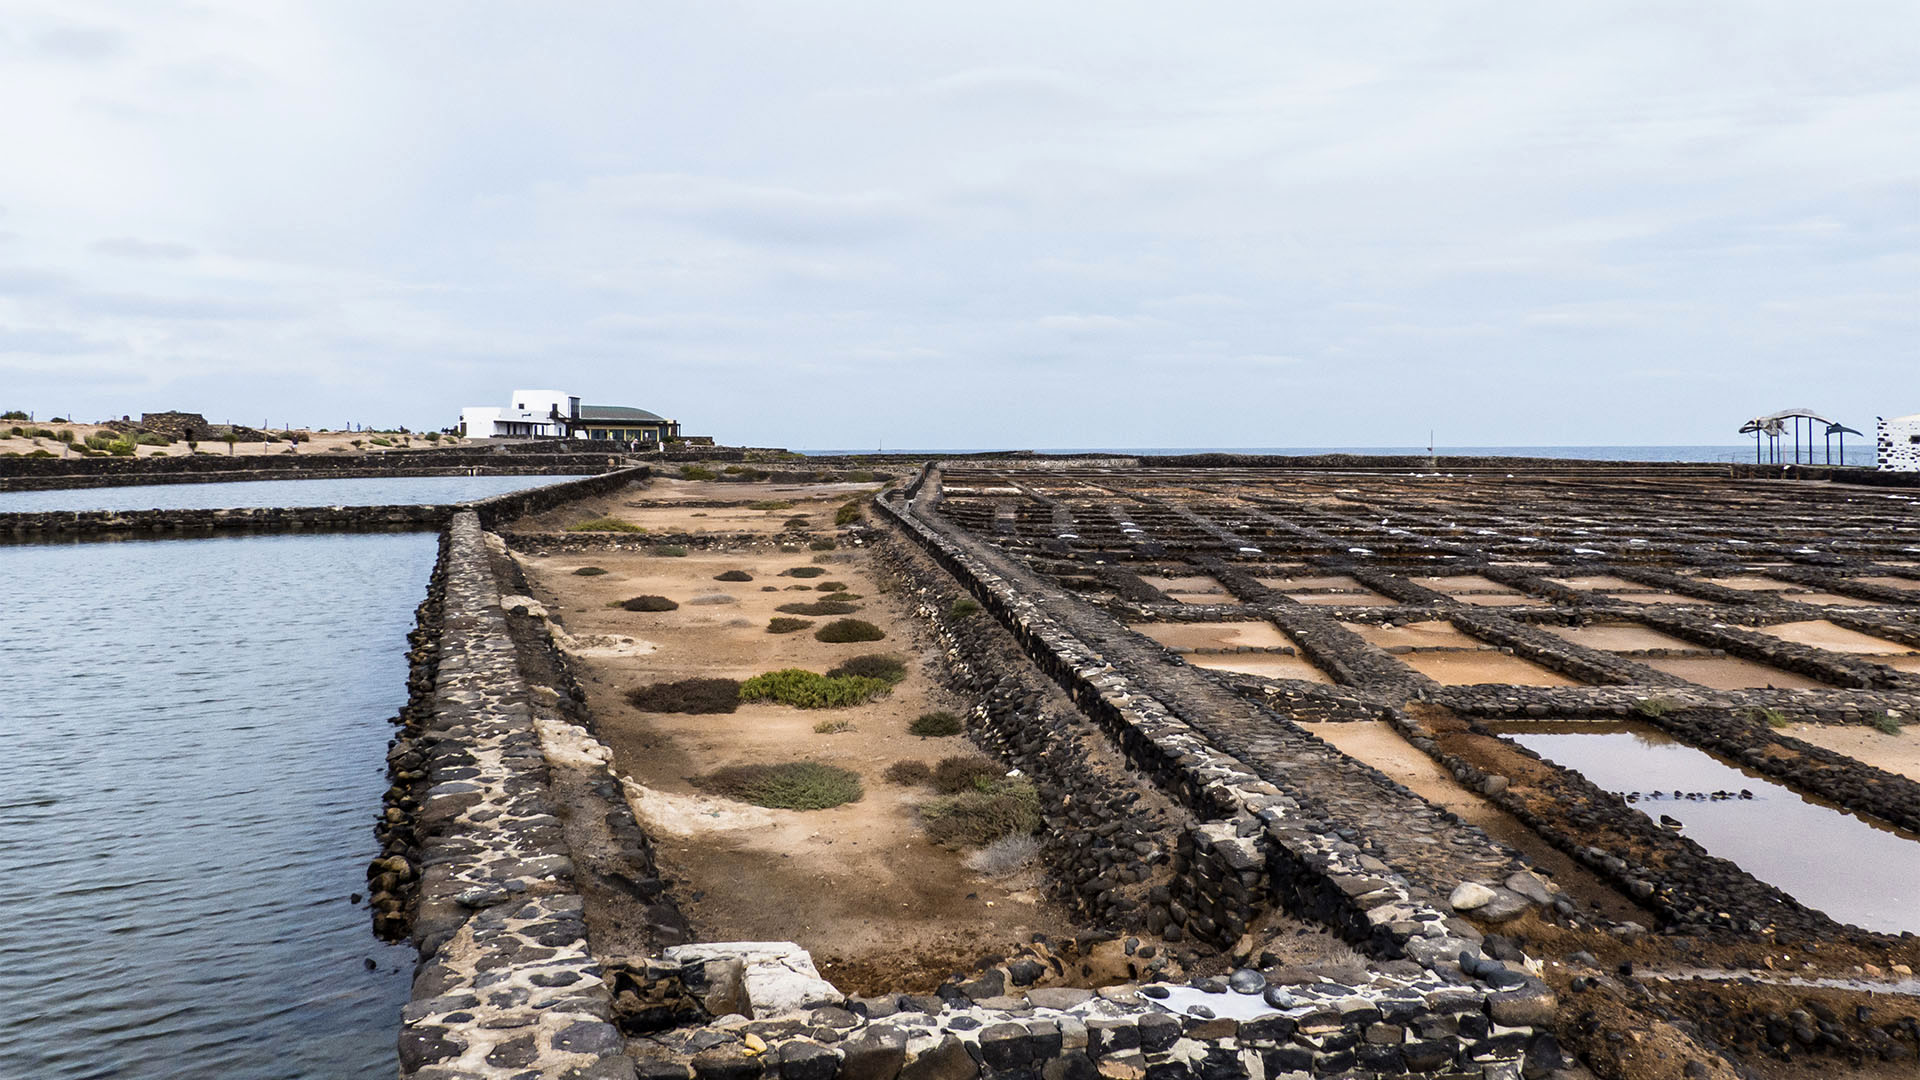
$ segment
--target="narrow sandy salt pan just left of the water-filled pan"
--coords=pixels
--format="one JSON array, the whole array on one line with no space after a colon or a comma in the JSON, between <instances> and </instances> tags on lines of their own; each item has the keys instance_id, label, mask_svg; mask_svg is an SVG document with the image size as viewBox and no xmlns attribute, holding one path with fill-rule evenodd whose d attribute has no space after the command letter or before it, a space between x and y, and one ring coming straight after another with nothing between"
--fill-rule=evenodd
<instances>
[{"instance_id":1,"label":"narrow sandy salt pan just left of the water-filled pan","mask_svg":"<svg viewBox=\"0 0 1920 1080\"><path fill-rule=\"evenodd\" d=\"M1478 824L1488 836L1507 844L1526 855L1540 871L1551 876L1571 896L1617 920L1645 919L1626 897L1601 882L1592 871L1580 867L1551 844L1540 838L1505 811L1484 798L1461 788L1452 773L1432 757L1400 738L1400 732L1384 723L1329 723L1300 724L1319 738L1331 742L1340 753L1373 765L1398 784L1405 784L1415 796L1428 803L1455 813L1461 821Z\"/></svg>"}]
</instances>

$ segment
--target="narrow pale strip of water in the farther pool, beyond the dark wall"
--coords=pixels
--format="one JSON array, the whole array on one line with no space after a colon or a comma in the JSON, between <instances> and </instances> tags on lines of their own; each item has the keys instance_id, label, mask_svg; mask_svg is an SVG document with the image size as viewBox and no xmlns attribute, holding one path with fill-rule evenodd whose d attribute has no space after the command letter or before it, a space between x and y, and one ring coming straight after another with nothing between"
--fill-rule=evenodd
<instances>
[{"instance_id":1,"label":"narrow pale strip of water in the farther pool, beyond the dark wall","mask_svg":"<svg viewBox=\"0 0 1920 1080\"><path fill-rule=\"evenodd\" d=\"M578 477L367 477L336 480L225 480L0 492L0 513L46 509L227 509L244 505L415 505L484 500Z\"/></svg>"}]
</instances>

